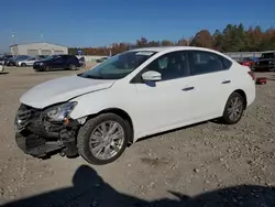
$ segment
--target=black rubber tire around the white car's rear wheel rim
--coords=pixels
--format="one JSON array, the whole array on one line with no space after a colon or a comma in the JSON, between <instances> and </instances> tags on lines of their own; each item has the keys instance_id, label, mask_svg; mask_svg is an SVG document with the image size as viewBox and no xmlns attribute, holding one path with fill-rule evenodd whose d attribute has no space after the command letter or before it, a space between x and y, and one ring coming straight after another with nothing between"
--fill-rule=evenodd
<instances>
[{"instance_id":1,"label":"black rubber tire around the white car's rear wheel rim","mask_svg":"<svg viewBox=\"0 0 275 207\"><path fill-rule=\"evenodd\" d=\"M240 108L239 116L238 116L237 119L230 118L230 115L229 115L230 113L229 110L230 110L231 101L234 100L234 99L239 99L241 101L240 103L242 103L241 108ZM227 103L226 103L221 121L223 123L226 123L226 124L235 124L235 123L238 123L241 120L241 118L242 118L244 108L245 108L244 97L241 94L239 94L239 92L231 94L230 97L228 98Z\"/></svg>"}]
</instances>

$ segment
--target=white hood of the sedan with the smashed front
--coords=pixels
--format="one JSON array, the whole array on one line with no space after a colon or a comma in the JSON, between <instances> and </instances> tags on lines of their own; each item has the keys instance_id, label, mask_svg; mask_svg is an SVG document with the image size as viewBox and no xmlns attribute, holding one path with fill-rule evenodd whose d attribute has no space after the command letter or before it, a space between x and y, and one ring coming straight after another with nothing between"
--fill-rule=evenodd
<instances>
[{"instance_id":1,"label":"white hood of the sedan with the smashed front","mask_svg":"<svg viewBox=\"0 0 275 207\"><path fill-rule=\"evenodd\" d=\"M43 109L84 94L110 88L114 81L82 78L76 75L57 78L31 88L23 94L20 101L24 105Z\"/></svg>"}]
</instances>

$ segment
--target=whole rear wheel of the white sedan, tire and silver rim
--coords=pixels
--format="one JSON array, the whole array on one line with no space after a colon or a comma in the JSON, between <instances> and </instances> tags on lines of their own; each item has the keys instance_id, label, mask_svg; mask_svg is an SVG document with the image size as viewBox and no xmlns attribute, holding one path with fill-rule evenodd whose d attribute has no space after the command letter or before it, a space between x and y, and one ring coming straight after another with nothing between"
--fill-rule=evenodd
<instances>
[{"instance_id":1,"label":"whole rear wheel of the white sedan, tire and silver rim","mask_svg":"<svg viewBox=\"0 0 275 207\"><path fill-rule=\"evenodd\" d=\"M244 107L245 107L244 97L239 92L231 94L222 115L223 123L226 124L238 123L242 118Z\"/></svg>"}]
</instances>

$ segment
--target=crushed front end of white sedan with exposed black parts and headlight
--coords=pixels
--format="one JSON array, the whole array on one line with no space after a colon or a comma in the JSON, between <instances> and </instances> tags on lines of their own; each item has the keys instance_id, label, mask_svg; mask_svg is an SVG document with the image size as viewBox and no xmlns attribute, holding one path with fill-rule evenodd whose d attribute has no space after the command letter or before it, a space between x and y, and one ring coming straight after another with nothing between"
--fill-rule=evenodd
<instances>
[{"instance_id":1,"label":"crushed front end of white sedan with exposed black parts and headlight","mask_svg":"<svg viewBox=\"0 0 275 207\"><path fill-rule=\"evenodd\" d=\"M69 118L75 105L66 102L46 109L35 109L22 103L14 120L19 148L24 153L41 159L51 157L56 153L76 156L76 135L80 123Z\"/></svg>"}]
</instances>

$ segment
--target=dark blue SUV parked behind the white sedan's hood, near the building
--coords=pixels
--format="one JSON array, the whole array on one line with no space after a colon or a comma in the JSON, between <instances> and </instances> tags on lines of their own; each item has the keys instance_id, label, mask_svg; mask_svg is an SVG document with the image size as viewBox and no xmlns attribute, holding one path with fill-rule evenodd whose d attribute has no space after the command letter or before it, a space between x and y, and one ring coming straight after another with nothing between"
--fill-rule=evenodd
<instances>
[{"instance_id":1,"label":"dark blue SUV parked behind the white sedan's hood, near the building","mask_svg":"<svg viewBox=\"0 0 275 207\"><path fill-rule=\"evenodd\" d=\"M48 72L57 69L76 70L80 67L79 59L75 55L52 55L43 61L35 62L33 69L36 72Z\"/></svg>"}]
</instances>

